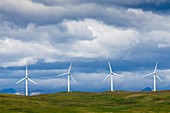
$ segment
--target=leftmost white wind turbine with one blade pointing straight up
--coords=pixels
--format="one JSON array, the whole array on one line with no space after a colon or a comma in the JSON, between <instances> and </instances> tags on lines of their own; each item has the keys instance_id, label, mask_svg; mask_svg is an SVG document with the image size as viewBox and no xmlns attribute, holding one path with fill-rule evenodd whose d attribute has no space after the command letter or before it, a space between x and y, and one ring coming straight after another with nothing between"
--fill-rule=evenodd
<instances>
[{"instance_id":1,"label":"leftmost white wind turbine with one blade pointing straight up","mask_svg":"<svg viewBox=\"0 0 170 113\"><path fill-rule=\"evenodd\" d=\"M30 78L28 78L28 68L26 65L26 73L25 73L25 77L22 78L21 80L19 80L16 84L22 82L23 80L25 80L25 95L28 96L28 81L37 84L35 81L31 80Z\"/></svg>"}]
</instances>

